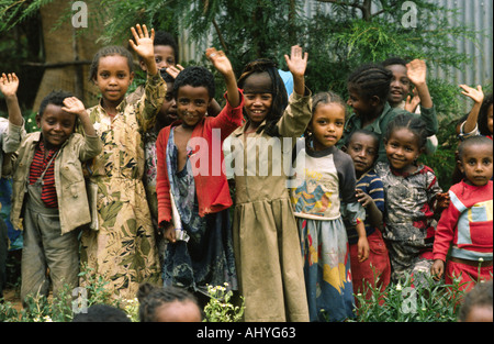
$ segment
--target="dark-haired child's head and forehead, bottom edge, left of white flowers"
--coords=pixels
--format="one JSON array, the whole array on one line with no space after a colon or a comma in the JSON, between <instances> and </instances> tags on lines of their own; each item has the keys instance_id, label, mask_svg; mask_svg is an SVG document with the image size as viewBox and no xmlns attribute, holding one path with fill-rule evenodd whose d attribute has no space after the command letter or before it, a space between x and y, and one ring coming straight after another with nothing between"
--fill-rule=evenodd
<instances>
[{"instance_id":1,"label":"dark-haired child's head and forehead, bottom edge, left of white flowers","mask_svg":"<svg viewBox=\"0 0 494 344\"><path fill-rule=\"evenodd\" d=\"M201 322L202 313L194 296L183 288L141 286L141 322Z\"/></svg>"}]
</instances>

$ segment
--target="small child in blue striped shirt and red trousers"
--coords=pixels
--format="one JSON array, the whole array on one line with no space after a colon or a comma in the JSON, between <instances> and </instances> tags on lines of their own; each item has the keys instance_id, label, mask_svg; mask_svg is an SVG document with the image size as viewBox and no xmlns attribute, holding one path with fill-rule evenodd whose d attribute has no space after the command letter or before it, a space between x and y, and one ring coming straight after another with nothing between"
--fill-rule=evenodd
<instances>
[{"instance_id":1,"label":"small child in blue striped shirt and red trousers","mask_svg":"<svg viewBox=\"0 0 494 344\"><path fill-rule=\"evenodd\" d=\"M358 233L347 228L350 244L351 276L355 293L361 293L370 284L384 290L390 284L391 266L388 248L382 238L384 189L381 178L375 174L374 162L378 156L379 136L366 130L357 130L348 138L345 152L353 160L357 176L357 198L366 208L366 235L369 242L369 259L358 262ZM377 280L377 278L379 278ZM367 298L371 296L368 290Z\"/></svg>"}]
</instances>

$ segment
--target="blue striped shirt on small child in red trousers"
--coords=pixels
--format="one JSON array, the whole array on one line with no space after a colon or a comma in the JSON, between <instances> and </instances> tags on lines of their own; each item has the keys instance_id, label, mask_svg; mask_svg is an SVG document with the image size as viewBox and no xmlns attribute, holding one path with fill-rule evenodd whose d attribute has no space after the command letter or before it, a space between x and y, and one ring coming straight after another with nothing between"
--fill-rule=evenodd
<instances>
[{"instance_id":1,"label":"blue striped shirt on small child in red trousers","mask_svg":"<svg viewBox=\"0 0 494 344\"><path fill-rule=\"evenodd\" d=\"M378 209L381 210L381 212L384 212L384 188L381 178L375 174L374 169L370 169L363 174L357 180L356 188L369 195ZM369 217L366 217L364 224L367 236L375 231L375 228L370 225L369 221ZM348 228L347 235L350 244L356 244L358 242L359 235L355 226Z\"/></svg>"}]
</instances>

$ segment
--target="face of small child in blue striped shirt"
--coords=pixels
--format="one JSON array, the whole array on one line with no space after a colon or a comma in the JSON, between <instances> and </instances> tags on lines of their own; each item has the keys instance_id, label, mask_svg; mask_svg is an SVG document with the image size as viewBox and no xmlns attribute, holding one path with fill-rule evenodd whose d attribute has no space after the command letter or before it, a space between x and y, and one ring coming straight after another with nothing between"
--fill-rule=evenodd
<instances>
[{"instance_id":1,"label":"face of small child in blue striped shirt","mask_svg":"<svg viewBox=\"0 0 494 344\"><path fill-rule=\"evenodd\" d=\"M378 149L379 143L373 136L363 133L351 135L351 140L347 145L347 153L353 160L358 176L361 176L372 167L378 156Z\"/></svg>"}]
</instances>

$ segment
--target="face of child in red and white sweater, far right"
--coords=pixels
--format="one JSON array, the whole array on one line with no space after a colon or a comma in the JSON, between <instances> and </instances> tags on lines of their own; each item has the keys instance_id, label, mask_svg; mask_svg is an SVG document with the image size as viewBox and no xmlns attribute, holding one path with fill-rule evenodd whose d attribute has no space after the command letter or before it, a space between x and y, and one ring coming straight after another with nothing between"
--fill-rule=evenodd
<instances>
[{"instance_id":1,"label":"face of child in red and white sweater, far right","mask_svg":"<svg viewBox=\"0 0 494 344\"><path fill-rule=\"evenodd\" d=\"M463 149L459 168L465 176L465 182L484 186L492 178L492 145L472 144Z\"/></svg>"}]
</instances>

